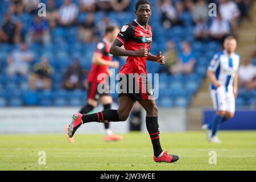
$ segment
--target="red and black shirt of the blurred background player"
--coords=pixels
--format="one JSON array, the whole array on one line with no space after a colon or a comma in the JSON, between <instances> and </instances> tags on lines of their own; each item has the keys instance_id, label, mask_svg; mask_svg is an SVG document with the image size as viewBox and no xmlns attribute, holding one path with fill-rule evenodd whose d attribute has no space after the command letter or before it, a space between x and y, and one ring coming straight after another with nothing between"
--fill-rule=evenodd
<instances>
[{"instance_id":1,"label":"red and black shirt of the blurred background player","mask_svg":"<svg viewBox=\"0 0 256 182\"><path fill-rule=\"evenodd\" d=\"M106 61L111 61L113 58L113 55L109 53L111 44L106 39L102 39L100 42L97 43L97 46L94 50L94 53L100 53L102 59ZM101 82L101 80L97 80L98 75L101 73L108 74L109 66L107 65L97 65L92 64L92 68L89 72L87 82Z\"/></svg>"}]
</instances>

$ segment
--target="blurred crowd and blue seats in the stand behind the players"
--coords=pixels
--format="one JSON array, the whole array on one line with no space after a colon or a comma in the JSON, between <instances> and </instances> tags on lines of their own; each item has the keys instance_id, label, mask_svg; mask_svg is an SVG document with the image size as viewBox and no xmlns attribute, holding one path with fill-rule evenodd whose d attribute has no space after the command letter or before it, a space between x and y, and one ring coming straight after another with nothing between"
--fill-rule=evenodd
<instances>
[{"instance_id":1,"label":"blurred crowd and blue seats in the stand behind the players","mask_svg":"<svg viewBox=\"0 0 256 182\"><path fill-rule=\"evenodd\" d=\"M38 4L46 4L46 16L38 16ZM9 0L0 7L0 81L15 75L27 80L30 90L85 90L86 73L95 43L105 27L119 27L134 19L131 0ZM148 65L148 72L160 72L166 79L167 96L187 97L189 105L205 77L210 58L220 51L227 35L237 35L243 18L250 19L251 0L158 0L152 2L152 53L164 51L166 65ZM216 3L217 16L210 17L209 3ZM256 53L254 53L254 57ZM54 58L53 58L54 57ZM123 59L117 58L121 62ZM255 59L255 58L254 58ZM256 60L256 59L255 59ZM254 63L255 62L255 63ZM241 88L255 90L256 61L243 60ZM251 72L248 76L245 73ZM2 78L3 79L3 78ZM12 79L12 78L10 78ZM4 80L4 79L3 79ZM194 88L189 93L170 88ZM184 80L194 81L192 85ZM7 84L2 84L5 89ZM173 87L173 86L172 86ZM181 94L181 95L180 95ZM256 93L255 93L256 94ZM176 96L175 95L175 96ZM1 96L1 94L0 94ZM163 94L163 97L166 97ZM162 97L162 98L163 98ZM84 98L84 97L83 97ZM161 98L161 97L160 97ZM161 99L163 106L171 101ZM1 102L1 101L0 101ZM24 102L23 102L24 104ZM26 104L26 103L25 103ZM160 104L161 105L161 104Z\"/></svg>"}]
</instances>

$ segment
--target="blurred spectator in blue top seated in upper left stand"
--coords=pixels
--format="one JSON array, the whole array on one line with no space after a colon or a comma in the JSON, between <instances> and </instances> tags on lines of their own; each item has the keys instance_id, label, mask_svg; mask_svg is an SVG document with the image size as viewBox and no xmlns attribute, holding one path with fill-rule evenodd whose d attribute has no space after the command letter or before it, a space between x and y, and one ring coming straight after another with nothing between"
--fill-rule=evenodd
<instances>
[{"instance_id":1,"label":"blurred spectator in blue top seated in upper left stand","mask_svg":"<svg viewBox=\"0 0 256 182\"><path fill-rule=\"evenodd\" d=\"M34 21L32 22L32 26L27 35L27 42L29 44L36 42L46 45L51 42L48 23L46 19L44 19L43 17L39 17L38 15L34 16Z\"/></svg>"}]
</instances>

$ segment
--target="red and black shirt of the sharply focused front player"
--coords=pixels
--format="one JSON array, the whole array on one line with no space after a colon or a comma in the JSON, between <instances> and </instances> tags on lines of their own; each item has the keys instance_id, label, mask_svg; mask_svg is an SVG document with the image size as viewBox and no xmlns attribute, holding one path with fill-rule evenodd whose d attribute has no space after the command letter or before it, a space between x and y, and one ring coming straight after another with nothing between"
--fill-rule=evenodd
<instances>
[{"instance_id":1,"label":"red and black shirt of the sharply focused front player","mask_svg":"<svg viewBox=\"0 0 256 182\"><path fill-rule=\"evenodd\" d=\"M122 27L117 35L117 39L123 43L126 50L138 51L145 44L145 48L149 52L152 43L151 27L148 25L147 28L144 28L135 19L133 22ZM147 74L146 60L147 57L129 56L119 73Z\"/></svg>"}]
</instances>

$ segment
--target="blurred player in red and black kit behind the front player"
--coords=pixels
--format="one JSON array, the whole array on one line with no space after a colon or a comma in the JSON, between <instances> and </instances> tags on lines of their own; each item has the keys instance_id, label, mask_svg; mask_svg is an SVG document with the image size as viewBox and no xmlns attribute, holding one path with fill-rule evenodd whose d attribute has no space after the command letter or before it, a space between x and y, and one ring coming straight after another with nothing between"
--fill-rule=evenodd
<instances>
[{"instance_id":1,"label":"blurred player in red and black kit behind the front player","mask_svg":"<svg viewBox=\"0 0 256 182\"><path fill-rule=\"evenodd\" d=\"M107 26L105 31L104 38L97 43L93 58L92 58L92 68L89 72L87 83L88 83L88 99L87 105L83 106L79 113L87 114L97 106L98 101L100 104L103 105L104 110L111 109L111 104L113 102L112 97L109 94L109 88L104 88L104 93L99 93L98 87L101 85L101 77L102 73L105 75L110 76L109 67L118 68L119 62L118 61L111 61L112 55L109 53L109 49L111 44L113 43L115 37L119 32L119 28L116 26ZM108 77L105 77L106 80ZM102 86L108 86L106 84ZM105 126L105 137L104 140L106 142L113 141L113 140L120 140L122 136L114 135L112 130L109 128L109 122L104 123ZM65 127L66 133L68 133L68 126ZM73 143L74 139L69 138L67 135L67 139L69 142Z\"/></svg>"}]
</instances>

